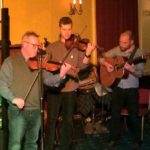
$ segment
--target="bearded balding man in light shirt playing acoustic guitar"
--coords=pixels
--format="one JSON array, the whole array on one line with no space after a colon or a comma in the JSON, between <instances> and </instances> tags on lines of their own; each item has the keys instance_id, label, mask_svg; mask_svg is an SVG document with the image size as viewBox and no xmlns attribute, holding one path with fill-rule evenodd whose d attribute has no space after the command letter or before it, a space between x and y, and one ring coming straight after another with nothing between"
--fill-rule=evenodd
<instances>
[{"instance_id":1,"label":"bearded balding man in light shirt playing acoustic guitar","mask_svg":"<svg viewBox=\"0 0 150 150\"><path fill-rule=\"evenodd\" d=\"M126 78L120 78L117 85L113 88L111 104L112 120L108 149L113 149L116 146L120 132L120 111L124 104L126 104L129 109L130 125L134 135L133 149L140 149L141 140L138 119L138 87L139 77L141 77L144 72L144 63L143 61L134 63L132 60L141 55L142 51L134 45L132 32L127 30L120 34L119 46L104 53L104 57L99 59L101 66L105 66L108 74L114 74L119 71L119 69L122 69L123 73L128 72L128 76L126 76ZM128 61L122 63L124 65L117 64L116 59L122 58L122 60L124 60L123 57ZM101 72L101 74L103 74L103 72Z\"/></svg>"}]
</instances>

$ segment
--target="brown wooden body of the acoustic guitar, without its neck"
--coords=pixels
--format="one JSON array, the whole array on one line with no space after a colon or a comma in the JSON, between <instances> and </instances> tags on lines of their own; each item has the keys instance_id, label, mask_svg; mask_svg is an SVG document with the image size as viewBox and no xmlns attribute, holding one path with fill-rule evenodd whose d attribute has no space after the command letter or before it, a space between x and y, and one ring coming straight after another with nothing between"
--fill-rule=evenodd
<instances>
[{"instance_id":1,"label":"brown wooden body of the acoustic guitar, without its neck","mask_svg":"<svg viewBox=\"0 0 150 150\"><path fill-rule=\"evenodd\" d=\"M124 58L122 56L116 56L115 58L106 57L105 60L114 66L115 69L113 72L108 72L106 67L101 65L100 80L104 86L113 87L124 76L125 71L123 67L117 67L119 64L124 64Z\"/></svg>"}]
</instances>

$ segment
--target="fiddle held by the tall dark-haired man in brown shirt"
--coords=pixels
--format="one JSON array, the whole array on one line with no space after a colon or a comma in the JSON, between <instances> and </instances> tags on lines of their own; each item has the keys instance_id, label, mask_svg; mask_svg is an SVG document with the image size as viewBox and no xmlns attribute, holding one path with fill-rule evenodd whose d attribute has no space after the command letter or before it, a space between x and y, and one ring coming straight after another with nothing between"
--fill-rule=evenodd
<instances>
[{"instance_id":1,"label":"fiddle held by the tall dark-haired man in brown shirt","mask_svg":"<svg viewBox=\"0 0 150 150\"><path fill-rule=\"evenodd\" d=\"M81 39L79 35L71 34L70 38L65 41L65 46L68 50L77 48L78 50L84 51L86 50L89 42L89 39Z\"/></svg>"}]
</instances>

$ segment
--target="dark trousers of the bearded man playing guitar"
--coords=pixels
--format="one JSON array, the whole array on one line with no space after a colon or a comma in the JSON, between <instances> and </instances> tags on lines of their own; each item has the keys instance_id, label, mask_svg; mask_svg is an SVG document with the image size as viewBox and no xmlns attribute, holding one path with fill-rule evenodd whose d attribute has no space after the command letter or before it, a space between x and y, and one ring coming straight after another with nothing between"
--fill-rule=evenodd
<instances>
[{"instance_id":1,"label":"dark trousers of the bearded man playing guitar","mask_svg":"<svg viewBox=\"0 0 150 150\"><path fill-rule=\"evenodd\" d=\"M140 125L138 116L138 89L114 88L112 93L112 120L110 125L110 140L116 141L120 134L120 112L123 105L126 105L129 112L130 129L133 133L134 142L140 142Z\"/></svg>"}]
</instances>

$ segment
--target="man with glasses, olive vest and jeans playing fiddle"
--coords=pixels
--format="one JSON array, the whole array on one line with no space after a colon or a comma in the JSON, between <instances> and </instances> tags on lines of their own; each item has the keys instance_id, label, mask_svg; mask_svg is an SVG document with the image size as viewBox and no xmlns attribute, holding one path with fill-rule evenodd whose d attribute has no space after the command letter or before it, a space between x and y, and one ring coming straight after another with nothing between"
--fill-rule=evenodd
<instances>
[{"instance_id":1,"label":"man with glasses, olive vest and jeans playing fiddle","mask_svg":"<svg viewBox=\"0 0 150 150\"><path fill-rule=\"evenodd\" d=\"M39 72L31 71L27 62L37 56L38 46L39 36L35 32L26 32L22 36L21 52L6 58L0 70L0 95L9 103L8 150L37 150L41 126ZM60 78L69 68L67 64L61 67ZM51 76L51 80L56 78Z\"/></svg>"}]
</instances>

